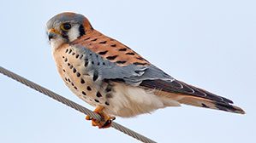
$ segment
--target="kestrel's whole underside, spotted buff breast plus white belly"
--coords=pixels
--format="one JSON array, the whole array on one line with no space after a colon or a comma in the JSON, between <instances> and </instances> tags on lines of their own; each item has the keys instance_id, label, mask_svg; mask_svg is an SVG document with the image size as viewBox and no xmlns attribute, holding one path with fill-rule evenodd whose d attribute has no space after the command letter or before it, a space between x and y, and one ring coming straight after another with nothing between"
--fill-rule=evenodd
<instances>
[{"instance_id":1,"label":"kestrel's whole underside, spotted buff breast plus white belly","mask_svg":"<svg viewBox=\"0 0 256 143\"><path fill-rule=\"evenodd\" d=\"M64 83L81 100L91 106L104 106L104 112L120 117L134 117L164 107L164 100L152 91L101 79L100 74L95 74L96 63L92 63L91 54L72 46L54 52Z\"/></svg>"}]
</instances>

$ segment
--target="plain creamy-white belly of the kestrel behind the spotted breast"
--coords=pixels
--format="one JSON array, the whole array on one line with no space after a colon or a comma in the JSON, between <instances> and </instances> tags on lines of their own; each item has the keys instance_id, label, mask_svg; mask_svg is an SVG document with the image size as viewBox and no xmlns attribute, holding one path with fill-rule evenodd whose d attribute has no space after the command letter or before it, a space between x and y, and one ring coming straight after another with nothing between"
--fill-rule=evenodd
<instances>
[{"instance_id":1,"label":"plain creamy-white belly of the kestrel behind the spotted breast","mask_svg":"<svg viewBox=\"0 0 256 143\"><path fill-rule=\"evenodd\" d=\"M176 100L170 100L153 94L152 91L116 83L110 108L106 112L120 117L134 117L150 113L166 106L180 106Z\"/></svg>"}]
</instances>

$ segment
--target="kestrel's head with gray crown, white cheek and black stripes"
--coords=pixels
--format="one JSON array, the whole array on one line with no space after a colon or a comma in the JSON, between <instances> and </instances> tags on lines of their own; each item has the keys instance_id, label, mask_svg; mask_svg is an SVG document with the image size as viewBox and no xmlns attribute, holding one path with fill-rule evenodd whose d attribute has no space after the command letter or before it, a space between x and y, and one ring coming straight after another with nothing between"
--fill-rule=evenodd
<instances>
[{"instance_id":1,"label":"kestrel's head with gray crown, white cheek and black stripes","mask_svg":"<svg viewBox=\"0 0 256 143\"><path fill-rule=\"evenodd\" d=\"M53 49L57 49L63 43L73 42L93 30L84 15L70 12L55 15L47 22L46 26Z\"/></svg>"}]
</instances>

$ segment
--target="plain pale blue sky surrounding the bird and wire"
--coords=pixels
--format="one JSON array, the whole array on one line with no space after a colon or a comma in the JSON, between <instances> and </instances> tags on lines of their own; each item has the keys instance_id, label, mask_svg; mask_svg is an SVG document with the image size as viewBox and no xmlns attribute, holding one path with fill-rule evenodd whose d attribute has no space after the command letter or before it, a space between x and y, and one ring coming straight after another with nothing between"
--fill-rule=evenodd
<instances>
[{"instance_id":1,"label":"plain pale blue sky surrounding the bird and wire","mask_svg":"<svg viewBox=\"0 0 256 143\"><path fill-rule=\"evenodd\" d=\"M63 11L85 14L92 26L186 83L223 95L244 116L192 106L116 118L168 143L255 142L256 2L0 1L0 66L90 109L57 74L45 23ZM0 142L137 142L115 129L92 128L84 115L0 75Z\"/></svg>"}]
</instances>

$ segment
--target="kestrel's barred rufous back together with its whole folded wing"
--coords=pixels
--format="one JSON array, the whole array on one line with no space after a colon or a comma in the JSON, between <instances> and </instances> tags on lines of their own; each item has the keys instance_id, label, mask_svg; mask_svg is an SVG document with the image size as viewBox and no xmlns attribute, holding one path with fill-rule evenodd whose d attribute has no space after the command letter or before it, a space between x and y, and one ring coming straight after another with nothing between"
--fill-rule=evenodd
<instances>
[{"instance_id":1,"label":"kestrel's barred rufous back together with its whole folded wing","mask_svg":"<svg viewBox=\"0 0 256 143\"><path fill-rule=\"evenodd\" d=\"M88 40L90 36L83 37L80 41L74 41L71 45L80 49L81 53L86 54L86 57L88 57L91 63L95 63L90 65L88 68L89 71L92 73L97 72L99 77L104 80L119 81L133 86L158 89L169 93L192 95L194 97L215 100L219 103L233 103L232 100L228 100L217 94L212 94L204 89L193 87L192 85L170 77L170 75L166 74L158 67L148 63L132 49L128 49L128 47L110 37L105 37L100 33L97 33L96 36L97 38L91 41ZM96 39L98 41L104 41L104 43L96 43ZM115 47L112 47L114 49L108 48L111 47L111 45L115 45ZM119 54L116 50L123 52L124 47L130 54L117 56ZM138 62L139 60L143 60L146 64L141 64Z\"/></svg>"}]
</instances>

